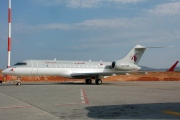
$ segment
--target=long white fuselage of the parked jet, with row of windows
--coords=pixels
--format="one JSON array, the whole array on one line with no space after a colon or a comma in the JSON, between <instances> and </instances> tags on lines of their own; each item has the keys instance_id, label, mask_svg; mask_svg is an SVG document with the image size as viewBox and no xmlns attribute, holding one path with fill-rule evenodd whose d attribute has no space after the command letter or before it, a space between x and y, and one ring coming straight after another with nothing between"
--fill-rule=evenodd
<instances>
[{"instance_id":1,"label":"long white fuselage of the parked jet, with row of windows","mask_svg":"<svg viewBox=\"0 0 180 120\"><path fill-rule=\"evenodd\" d=\"M137 65L120 63L120 69L112 69L112 62L25 60L3 71L13 76L62 76L73 78L72 74L113 73L116 71L139 70Z\"/></svg>"}]
</instances>

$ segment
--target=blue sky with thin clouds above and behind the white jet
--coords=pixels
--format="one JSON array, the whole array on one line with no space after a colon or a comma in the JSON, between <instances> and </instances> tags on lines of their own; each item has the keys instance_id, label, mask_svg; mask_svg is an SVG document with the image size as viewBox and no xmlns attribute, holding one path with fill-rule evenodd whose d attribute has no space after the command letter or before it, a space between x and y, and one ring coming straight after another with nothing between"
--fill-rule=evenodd
<instances>
[{"instance_id":1,"label":"blue sky with thin clouds above and behind the white jet","mask_svg":"<svg viewBox=\"0 0 180 120\"><path fill-rule=\"evenodd\" d=\"M180 0L12 0L11 65L27 59L113 62L135 45L139 65L180 60ZM7 67L8 0L0 0L0 68Z\"/></svg>"}]
</instances>

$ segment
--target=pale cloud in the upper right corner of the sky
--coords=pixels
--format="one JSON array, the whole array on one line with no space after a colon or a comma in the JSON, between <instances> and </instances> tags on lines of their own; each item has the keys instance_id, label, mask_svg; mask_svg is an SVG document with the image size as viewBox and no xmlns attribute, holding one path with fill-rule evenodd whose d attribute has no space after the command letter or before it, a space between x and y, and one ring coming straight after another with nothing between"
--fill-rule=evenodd
<instances>
[{"instance_id":1,"label":"pale cloud in the upper right corner of the sky","mask_svg":"<svg viewBox=\"0 0 180 120\"><path fill-rule=\"evenodd\" d=\"M178 15L180 14L180 2L157 5L154 9L148 10L148 13L154 15Z\"/></svg>"}]
</instances>

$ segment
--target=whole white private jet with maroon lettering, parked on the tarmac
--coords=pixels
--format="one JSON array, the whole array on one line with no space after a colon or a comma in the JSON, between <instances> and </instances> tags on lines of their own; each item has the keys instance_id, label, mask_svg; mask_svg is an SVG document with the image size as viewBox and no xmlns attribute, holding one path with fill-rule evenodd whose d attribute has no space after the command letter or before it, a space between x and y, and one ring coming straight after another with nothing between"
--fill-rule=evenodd
<instances>
[{"instance_id":1,"label":"whole white private jet with maroon lettering, parked on the tarmac","mask_svg":"<svg viewBox=\"0 0 180 120\"><path fill-rule=\"evenodd\" d=\"M61 61L61 60L25 60L2 71L3 75L12 76L62 76L84 78L87 84L101 84L101 78L116 74L125 74L140 70L137 64L144 51L150 47L136 45L121 60L113 62ZM156 47L155 47L156 48ZM21 84L18 82L17 84Z\"/></svg>"}]
</instances>

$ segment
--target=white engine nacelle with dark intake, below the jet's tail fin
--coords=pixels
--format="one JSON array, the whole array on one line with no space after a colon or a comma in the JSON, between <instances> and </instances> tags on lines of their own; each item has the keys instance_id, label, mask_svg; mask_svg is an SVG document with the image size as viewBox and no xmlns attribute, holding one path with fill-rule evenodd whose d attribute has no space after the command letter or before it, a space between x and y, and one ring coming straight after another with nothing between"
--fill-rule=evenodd
<instances>
[{"instance_id":1,"label":"white engine nacelle with dark intake, below the jet's tail fin","mask_svg":"<svg viewBox=\"0 0 180 120\"><path fill-rule=\"evenodd\" d=\"M119 61L112 62L111 68L114 70L122 70L122 71L140 70L141 69L141 67L139 67L135 64L124 63L124 62L119 62Z\"/></svg>"}]
</instances>

